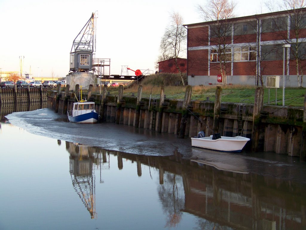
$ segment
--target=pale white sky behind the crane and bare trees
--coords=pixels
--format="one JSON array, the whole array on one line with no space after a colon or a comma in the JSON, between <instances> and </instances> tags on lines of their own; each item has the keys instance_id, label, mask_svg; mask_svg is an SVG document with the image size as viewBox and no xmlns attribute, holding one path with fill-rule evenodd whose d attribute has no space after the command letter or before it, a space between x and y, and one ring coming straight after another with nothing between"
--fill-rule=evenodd
<instances>
[{"instance_id":1,"label":"pale white sky behind the crane and bare trees","mask_svg":"<svg viewBox=\"0 0 306 230\"><path fill-rule=\"evenodd\" d=\"M266 13L261 1L236 0L236 15ZM122 66L155 72L160 40L170 15L198 23L200 0L1 0L0 69L63 78L73 40L95 13L95 58L110 59L110 74ZM21 64L20 64L21 63ZM134 72L129 72L134 75Z\"/></svg>"}]
</instances>

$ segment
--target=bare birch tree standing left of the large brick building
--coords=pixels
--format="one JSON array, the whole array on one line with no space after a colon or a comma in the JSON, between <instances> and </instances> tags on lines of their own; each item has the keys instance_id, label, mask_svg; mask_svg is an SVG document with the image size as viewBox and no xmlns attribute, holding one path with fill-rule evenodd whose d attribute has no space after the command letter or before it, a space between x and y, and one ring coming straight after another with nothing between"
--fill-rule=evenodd
<instances>
[{"instance_id":1,"label":"bare birch tree standing left of the large brick building","mask_svg":"<svg viewBox=\"0 0 306 230\"><path fill-rule=\"evenodd\" d=\"M181 80L183 86L185 86L185 81L183 77L183 72L179 66L177 58L181 55L185 55L186 42L187 42L187 30L183 26L183 17L179 13L171 14L170 25L166 27L166 31L162 36L160 42L160 50L162 55L159 58L174 58L175 66L177 71L181 75Z\"/></svg>"}]
</instances>

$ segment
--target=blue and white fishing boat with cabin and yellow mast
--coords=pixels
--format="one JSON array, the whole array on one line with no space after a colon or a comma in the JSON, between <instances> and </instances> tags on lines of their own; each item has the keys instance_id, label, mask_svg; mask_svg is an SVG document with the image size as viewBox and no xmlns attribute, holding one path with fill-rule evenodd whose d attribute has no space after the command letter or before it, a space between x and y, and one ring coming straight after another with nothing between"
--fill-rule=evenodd
<instances>
[{"instance_id":1,"label":"blue and white fishing boat with cabin and yellow mast","mask_svg":"<svg viewBox=\"0 0 306 230\"><path fill-rule=\"evenodd\" d=\"M76 98L77 102L73 103L73 109L67 111L69 121L74 123L96 123L99 114L95 110L95 102L87 102L86 99L82 100L82 89L80 95L80 101Z\"/></svg>"}]
</instances>

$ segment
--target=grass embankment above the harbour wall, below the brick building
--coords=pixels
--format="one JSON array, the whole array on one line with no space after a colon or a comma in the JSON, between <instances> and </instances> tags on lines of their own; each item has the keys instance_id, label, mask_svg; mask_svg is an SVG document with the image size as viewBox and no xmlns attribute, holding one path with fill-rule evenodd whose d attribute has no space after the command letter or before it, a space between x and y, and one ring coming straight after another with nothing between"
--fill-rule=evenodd
<instances>
[{"instance_id":1,"label":"grass embankment above the harbour wall, below the brick building","mask_svg":"<svg viewBox=\"0 0 306 230\"><path fill-rule=\"evenodd\" d=\"M140 84L142 88L142 97L151 98L160 97L161 86L164 85L166 98L170 99L184 99L185 87L182 85L175 86L181 81L181 77L178 75L166 75L157 74L148 76ZM215 90L217 85L209 86L192 86L191 100L206 101L209 98L210 101L215 101ZM254 103L256 86L242 86L242 85L228 85L222 86L222 102L234 102L239 103L245 100L245 103ZM110 95L118 95L118 87L108 87ZM133 87L124 89L124 96L131 96L132 93L137 95L138 85L135 84ZM285 88L285 105L286 106L298 106L304 107L305 88ZM282 88L270 89L270 99L268 98L269 89L264 89L263 102L267 105L270 101L270 105L276 105L275 98L277 93L277 105L282 105Z\"/></svg>"}]
</instances>

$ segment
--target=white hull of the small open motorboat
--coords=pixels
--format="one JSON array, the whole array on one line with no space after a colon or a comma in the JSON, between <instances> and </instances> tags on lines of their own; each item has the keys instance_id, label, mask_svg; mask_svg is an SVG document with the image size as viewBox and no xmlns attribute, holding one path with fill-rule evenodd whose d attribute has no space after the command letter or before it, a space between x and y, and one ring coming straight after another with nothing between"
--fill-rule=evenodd
<instances>
[{"instance_id":1,"label":"white hull of the small open motorboat","mask_svg":"<svg viewBox=\"0 0 306 230\"><path fill-rule=\"evenodd\" d=\"M207 148L217 151L241 152L249 138L242 136L227 137L221 136L217 140L212 140L212 136L191 138L191 145L200 148Z\"/></svg>"}]
</instances>

